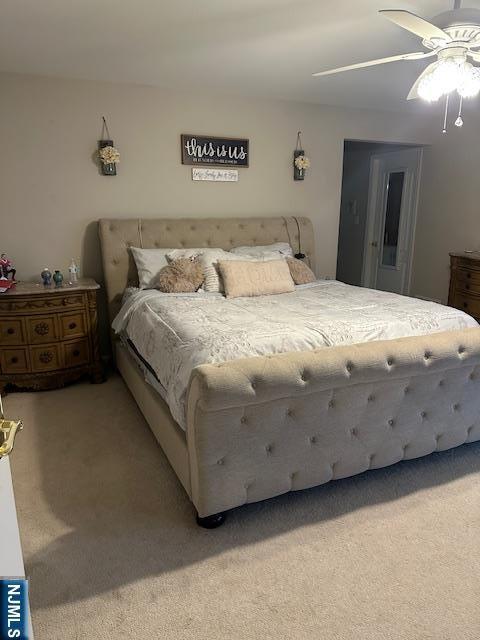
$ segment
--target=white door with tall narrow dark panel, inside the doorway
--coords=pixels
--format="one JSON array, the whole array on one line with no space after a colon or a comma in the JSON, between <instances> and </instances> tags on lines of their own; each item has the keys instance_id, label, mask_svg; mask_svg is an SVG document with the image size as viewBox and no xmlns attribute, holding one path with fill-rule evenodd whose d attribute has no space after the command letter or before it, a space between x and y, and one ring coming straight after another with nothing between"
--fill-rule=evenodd
<instances>
[{"instance_id":1,"label":"white door with tall narrow dark panel, inside the doorway","mask_svg":"<svg viewBox=\"0 0 480 640\"><path fill-rule=\"evenodd\" d=\"M422 150L372 157L362 283L408 294Z\"/></svg>"}]
</instances>

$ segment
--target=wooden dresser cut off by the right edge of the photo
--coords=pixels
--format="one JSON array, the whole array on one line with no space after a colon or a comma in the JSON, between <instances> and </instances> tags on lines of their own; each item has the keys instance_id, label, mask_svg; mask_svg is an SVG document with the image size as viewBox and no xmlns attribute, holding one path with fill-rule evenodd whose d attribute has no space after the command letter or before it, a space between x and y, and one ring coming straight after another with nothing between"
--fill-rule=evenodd
<instances>
[{"instance_id":1,"label":"wooden dresser cut off by the right edge of the photo","mask_svg":"<svg viewBox=\"0 0 480 640\"><path fill-rule=\"evenodd\" d=\"M448 304L480 322L480 251L450 254Z\"/></svg>"}]
</instances>

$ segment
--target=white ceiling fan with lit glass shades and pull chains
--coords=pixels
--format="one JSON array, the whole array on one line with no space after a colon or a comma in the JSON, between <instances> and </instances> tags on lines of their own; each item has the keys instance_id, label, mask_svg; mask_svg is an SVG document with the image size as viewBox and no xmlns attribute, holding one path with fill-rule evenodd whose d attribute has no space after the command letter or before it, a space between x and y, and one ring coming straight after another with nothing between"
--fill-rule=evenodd
<instances>
[{"instance_id":1,"label":"white ceiling fan with lit glass shades and pull chains","mask_svg":"<svg viewBox=\"0 0 480 640\"><path fill-rule=\"evenodd\" d=\"M435 16L431 22L403 9L386 9L379 12L383 17L398 26L422 38L422 45L427 51L402 53L388 58L369 60L357 64L319 71L313 76L328 76L335 73L363 69L396 61L423 60L436 57L436 60L415 80L407 100L423 98L435 102L446 96L444 131L448 112L449 95L456 91L460 96L459 115L455 124L462 126L461 117L463 98L472 98L480 92L480 11L462 9L461 0L455 0L454 8Z\"/></svg>"}]
</instances>

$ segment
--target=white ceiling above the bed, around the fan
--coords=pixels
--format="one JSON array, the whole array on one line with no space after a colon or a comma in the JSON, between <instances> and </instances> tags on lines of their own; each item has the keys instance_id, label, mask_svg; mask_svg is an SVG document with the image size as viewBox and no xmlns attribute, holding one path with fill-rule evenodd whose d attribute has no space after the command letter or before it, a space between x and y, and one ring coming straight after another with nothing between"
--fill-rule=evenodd
<instances>
[{"instance_id":1,"label":"white ceiling above the bed, around the fan","mask_svg":"<svg viewBox=\"0 0 480 640\"><path fill-rule=\"evenodd\" d=\"M480 1L467 1L480 8ZM450 0L1 0L0 70L402 109L427 62L311 73L419 39L378 15L430 18Z\"/></svg>"}]
</instances>

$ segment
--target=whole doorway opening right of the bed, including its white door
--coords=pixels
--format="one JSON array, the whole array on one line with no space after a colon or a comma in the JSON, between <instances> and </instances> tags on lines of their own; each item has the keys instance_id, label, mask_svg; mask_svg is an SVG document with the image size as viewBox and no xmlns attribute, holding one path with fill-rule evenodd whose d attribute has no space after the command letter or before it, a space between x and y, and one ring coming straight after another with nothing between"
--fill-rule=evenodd
<instances>
[{"instance_id":1,"label":"whole doorway opening right of the bed, including its white door","mask_svg":"<svg viewBox=\"0 0 480 640\"><path fill-rule=\"evenodd\" d=\"M345 141L337 279L408 295L422 148Z\"/></svg>"}]
</instances>

